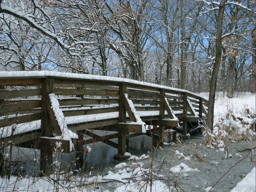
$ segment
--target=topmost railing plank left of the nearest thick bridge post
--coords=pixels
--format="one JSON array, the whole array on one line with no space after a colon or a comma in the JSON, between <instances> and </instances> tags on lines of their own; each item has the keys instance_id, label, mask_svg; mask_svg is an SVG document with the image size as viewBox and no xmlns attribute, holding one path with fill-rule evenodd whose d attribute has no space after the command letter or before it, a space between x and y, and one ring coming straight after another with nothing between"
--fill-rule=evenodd
<instances>
[{"instance_id":1,"label":"topmost railing plank left of the nearest thick bridge post","mask_svg":"<svg viewBox=\"0 0 256 192\"><path fill-rule=\"evenodd\" d=\"M42 78L0 79L0 86L40 86Z\"/></svg>"}]
</instances>

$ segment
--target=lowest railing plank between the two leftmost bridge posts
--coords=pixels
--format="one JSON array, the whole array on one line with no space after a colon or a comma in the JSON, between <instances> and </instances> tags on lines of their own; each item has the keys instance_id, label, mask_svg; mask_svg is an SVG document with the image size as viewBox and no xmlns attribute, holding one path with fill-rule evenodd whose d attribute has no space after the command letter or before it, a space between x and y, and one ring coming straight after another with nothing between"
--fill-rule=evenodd
<instances>
[{"instance_id":1,"label":"lowest railing plank between the two leftmost bridge posts","mask_svg":"<svg viewBox=\"0 0 256 192\"><path fill-rule=\"evenodd\" d=\"M118 107L99 108L99 109L96 108L96 109L68 110L68 111L63 111L63 114L64 114L65 117L70 117L70 116L111 113L111 112L118 112Z\"/></svg>"}]
</instances>

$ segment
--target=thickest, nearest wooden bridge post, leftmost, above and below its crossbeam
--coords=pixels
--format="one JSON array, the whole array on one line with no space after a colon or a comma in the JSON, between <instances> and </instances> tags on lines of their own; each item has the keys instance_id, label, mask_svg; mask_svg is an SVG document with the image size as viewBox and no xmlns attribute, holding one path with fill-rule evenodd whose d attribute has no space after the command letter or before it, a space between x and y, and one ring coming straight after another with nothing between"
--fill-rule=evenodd
<instances>
[{"instance_id":1,"label":"thickest, nearest wooden bridge post, leftmost, above and below its crossbeam","mask_svg":"<svg viewBox=\"0 0 256 192\"><path fill-rule=\"evenodd\" d=\"M52 137L53 126L47 112L47 95L54 92L54 79L42 79L41 133L43 137ZM45 147L47 148L47 146ZM52 151L41 150L40 169L46 174L52 173Z\"/></svg>"}]
</instances>

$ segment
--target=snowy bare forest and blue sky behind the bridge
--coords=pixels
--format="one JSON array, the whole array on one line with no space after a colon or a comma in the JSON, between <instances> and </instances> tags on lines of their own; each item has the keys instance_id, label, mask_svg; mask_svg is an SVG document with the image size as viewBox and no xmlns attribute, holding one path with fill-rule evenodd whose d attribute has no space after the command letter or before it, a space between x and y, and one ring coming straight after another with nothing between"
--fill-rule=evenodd
<instances>
[{"instance_id":1,"label":"snowy bare forest and blue sky behind the bridge","mask_svg":"<svg viewBox=\"0 0 256 192\"><path fill-rule=\"evenodd\" d=\"M0 70L52 70L209 91L220 2L0 0ZM217 90L255 92L256 1L225 1Z\"/></svg>"}]
</instances>

